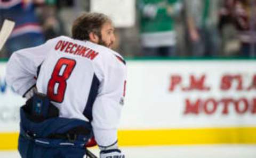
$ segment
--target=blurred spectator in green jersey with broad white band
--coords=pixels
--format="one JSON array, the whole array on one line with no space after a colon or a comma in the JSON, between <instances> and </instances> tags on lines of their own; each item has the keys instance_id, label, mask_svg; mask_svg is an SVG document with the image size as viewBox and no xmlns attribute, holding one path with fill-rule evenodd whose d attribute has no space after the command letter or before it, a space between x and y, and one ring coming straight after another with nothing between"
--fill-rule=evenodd
<instances>
[{"instance_id":1,"label":"blurred spectator in green jersey with broad white band","mask_svg":"<svg viewBox=\"0 0 256 158\"><path fill-rule=\"evenodd\" d=\"M182 8L180 0L139 0L143 55L175 56L175 17Z\"/></svg>"}]
</instances>

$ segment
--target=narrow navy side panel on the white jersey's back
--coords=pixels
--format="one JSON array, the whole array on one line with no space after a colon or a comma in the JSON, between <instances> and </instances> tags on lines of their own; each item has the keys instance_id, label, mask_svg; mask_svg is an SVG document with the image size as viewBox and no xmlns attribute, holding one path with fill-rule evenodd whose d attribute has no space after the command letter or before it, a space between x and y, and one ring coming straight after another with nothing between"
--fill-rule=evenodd
<instances>
[{"instance_id":1,"label":"narrow navy side panel on the white jersey's back","mask_svg":"<svg viewBox=\"0 0 256 158\"><path fill-rule=\"evenodd\" d=\"M98 94L98 89L99 89L99 85L100 85L100 81L97 78L97 76L94 74L93 78L92 78L92 85L91 85L91 89L90 89L90 93L87 99L87 103L83 112L83 115L89 119L89 121L92 121L92 106L93 103L96 99L96 96Z\"/></svg>"}]
</instances>

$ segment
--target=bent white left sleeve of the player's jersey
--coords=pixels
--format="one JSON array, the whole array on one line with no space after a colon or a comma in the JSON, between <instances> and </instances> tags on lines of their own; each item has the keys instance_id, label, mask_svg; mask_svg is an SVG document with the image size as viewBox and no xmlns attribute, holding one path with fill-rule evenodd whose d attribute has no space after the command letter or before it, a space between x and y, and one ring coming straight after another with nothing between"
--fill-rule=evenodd
<instances>
[{"instance_id":1,"label":"bent white left sleeve of the player's jersey","mask_svg":"<svg viewBox=\"0 0 256 158\"><path fill-rule=\"evenodd\" d=\"M13 52L6 67L6 82L15 92L25 96L35 86L38 66L50 52L52 41Z\"/></svg>"}]
</instances>

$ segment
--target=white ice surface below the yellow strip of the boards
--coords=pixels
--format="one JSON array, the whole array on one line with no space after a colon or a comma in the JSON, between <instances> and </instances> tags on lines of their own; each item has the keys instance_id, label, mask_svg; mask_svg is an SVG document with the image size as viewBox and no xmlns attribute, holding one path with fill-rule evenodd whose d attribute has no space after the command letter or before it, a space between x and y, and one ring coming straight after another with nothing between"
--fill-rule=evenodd
<instances>
[{"instance_id":1,"label":"white ice surface below the yellow strip of the boards","mask_svg":"<svg viewBox=\"0 0 256 158\"><path fill-rule=\"evenodd\" d=\"M256 145L191 145L121 147L126 158L255 158ZM90 148L98 155L98 148ZM1 158L20 157L17 151L0 151Z\"/></svg>"}]
</instances>

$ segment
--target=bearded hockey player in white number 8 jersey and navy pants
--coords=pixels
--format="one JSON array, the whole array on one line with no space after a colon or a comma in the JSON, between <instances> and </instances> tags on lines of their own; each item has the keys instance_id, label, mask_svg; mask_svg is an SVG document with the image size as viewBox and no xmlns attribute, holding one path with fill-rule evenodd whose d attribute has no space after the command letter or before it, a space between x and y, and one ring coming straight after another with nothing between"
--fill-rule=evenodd
<instances>
[{"instance_id":1,"label":"bearded hockey player in white number 8 jersey and navy pants","mask_svg":"<svg viewBox=\"0 0 256 158\"><path fill-rule=\"evenodd\" d=\"M114 41L106 15L85 13L73 23L72 38L57 37L13 53L7 84L28 99L20 110L22 157L83 157L92 131L101 158L124 157L117 126L126 67L109 49Z\"/></svg>"}]
</instances>

